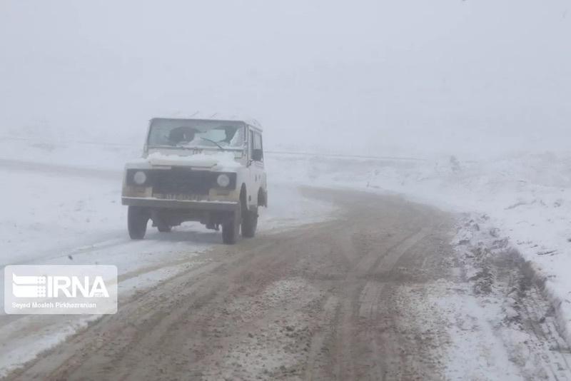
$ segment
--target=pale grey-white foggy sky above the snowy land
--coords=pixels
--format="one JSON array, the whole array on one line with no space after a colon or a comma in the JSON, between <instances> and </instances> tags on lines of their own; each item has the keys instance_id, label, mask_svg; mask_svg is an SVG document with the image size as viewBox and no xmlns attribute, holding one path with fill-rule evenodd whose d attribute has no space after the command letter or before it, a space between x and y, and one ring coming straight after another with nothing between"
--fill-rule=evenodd
<instances>
[{"instance_id":1,"label":"pale grey-white foggy sky above the snowy land","mask_svg":"<svg viewBox=\"0 0 571 381\"><path fill-rule=\"evenodd\" d=\"M142 141L196 111L273 148L565 149L571 1L0 1L0 136Z\"/></svg>"}]
</instances>

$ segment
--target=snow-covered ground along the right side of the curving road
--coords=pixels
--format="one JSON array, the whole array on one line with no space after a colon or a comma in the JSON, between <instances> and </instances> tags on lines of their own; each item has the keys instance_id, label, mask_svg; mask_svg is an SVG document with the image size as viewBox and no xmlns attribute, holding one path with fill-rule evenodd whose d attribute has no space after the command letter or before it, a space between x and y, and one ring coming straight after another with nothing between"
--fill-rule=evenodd
<instances>
[{"instance_id":1,"label":"snow-covered ground along the right side of the curving road","mask_svg":"<svg viewBox=\"0 0 571 381\"><path fill-rule=\"evenodd\" d=\"M522 153L462 161L286 156L292 179L321 186L400 194L453 213L467 213L481 232L465 240L506 245L530 263L571 345L571 156ZM284 158L273 158L281 163Z\"/></svg>"}]
</instances>

